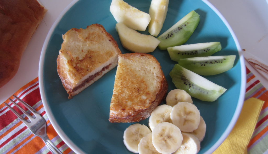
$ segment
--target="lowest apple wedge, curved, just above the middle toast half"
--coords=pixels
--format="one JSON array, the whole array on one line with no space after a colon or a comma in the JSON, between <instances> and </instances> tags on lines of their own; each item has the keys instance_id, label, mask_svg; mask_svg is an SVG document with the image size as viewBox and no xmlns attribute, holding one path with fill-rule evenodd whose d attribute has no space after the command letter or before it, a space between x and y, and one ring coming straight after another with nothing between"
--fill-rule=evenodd
<instances>
[{"instance_id":1,"label":"lowest apple wedge, curved, just above the middle toast half","mask_svg":"<svg viewBox=\"0 0 268 154\"><path fill-rule=\"evenodd\" d=\"M140 34L136 30L128 28L124 23L116 24L120 41L124 48L132 52L153 52L160 41L152 35Z\"/></svg>"}]
</instances>

